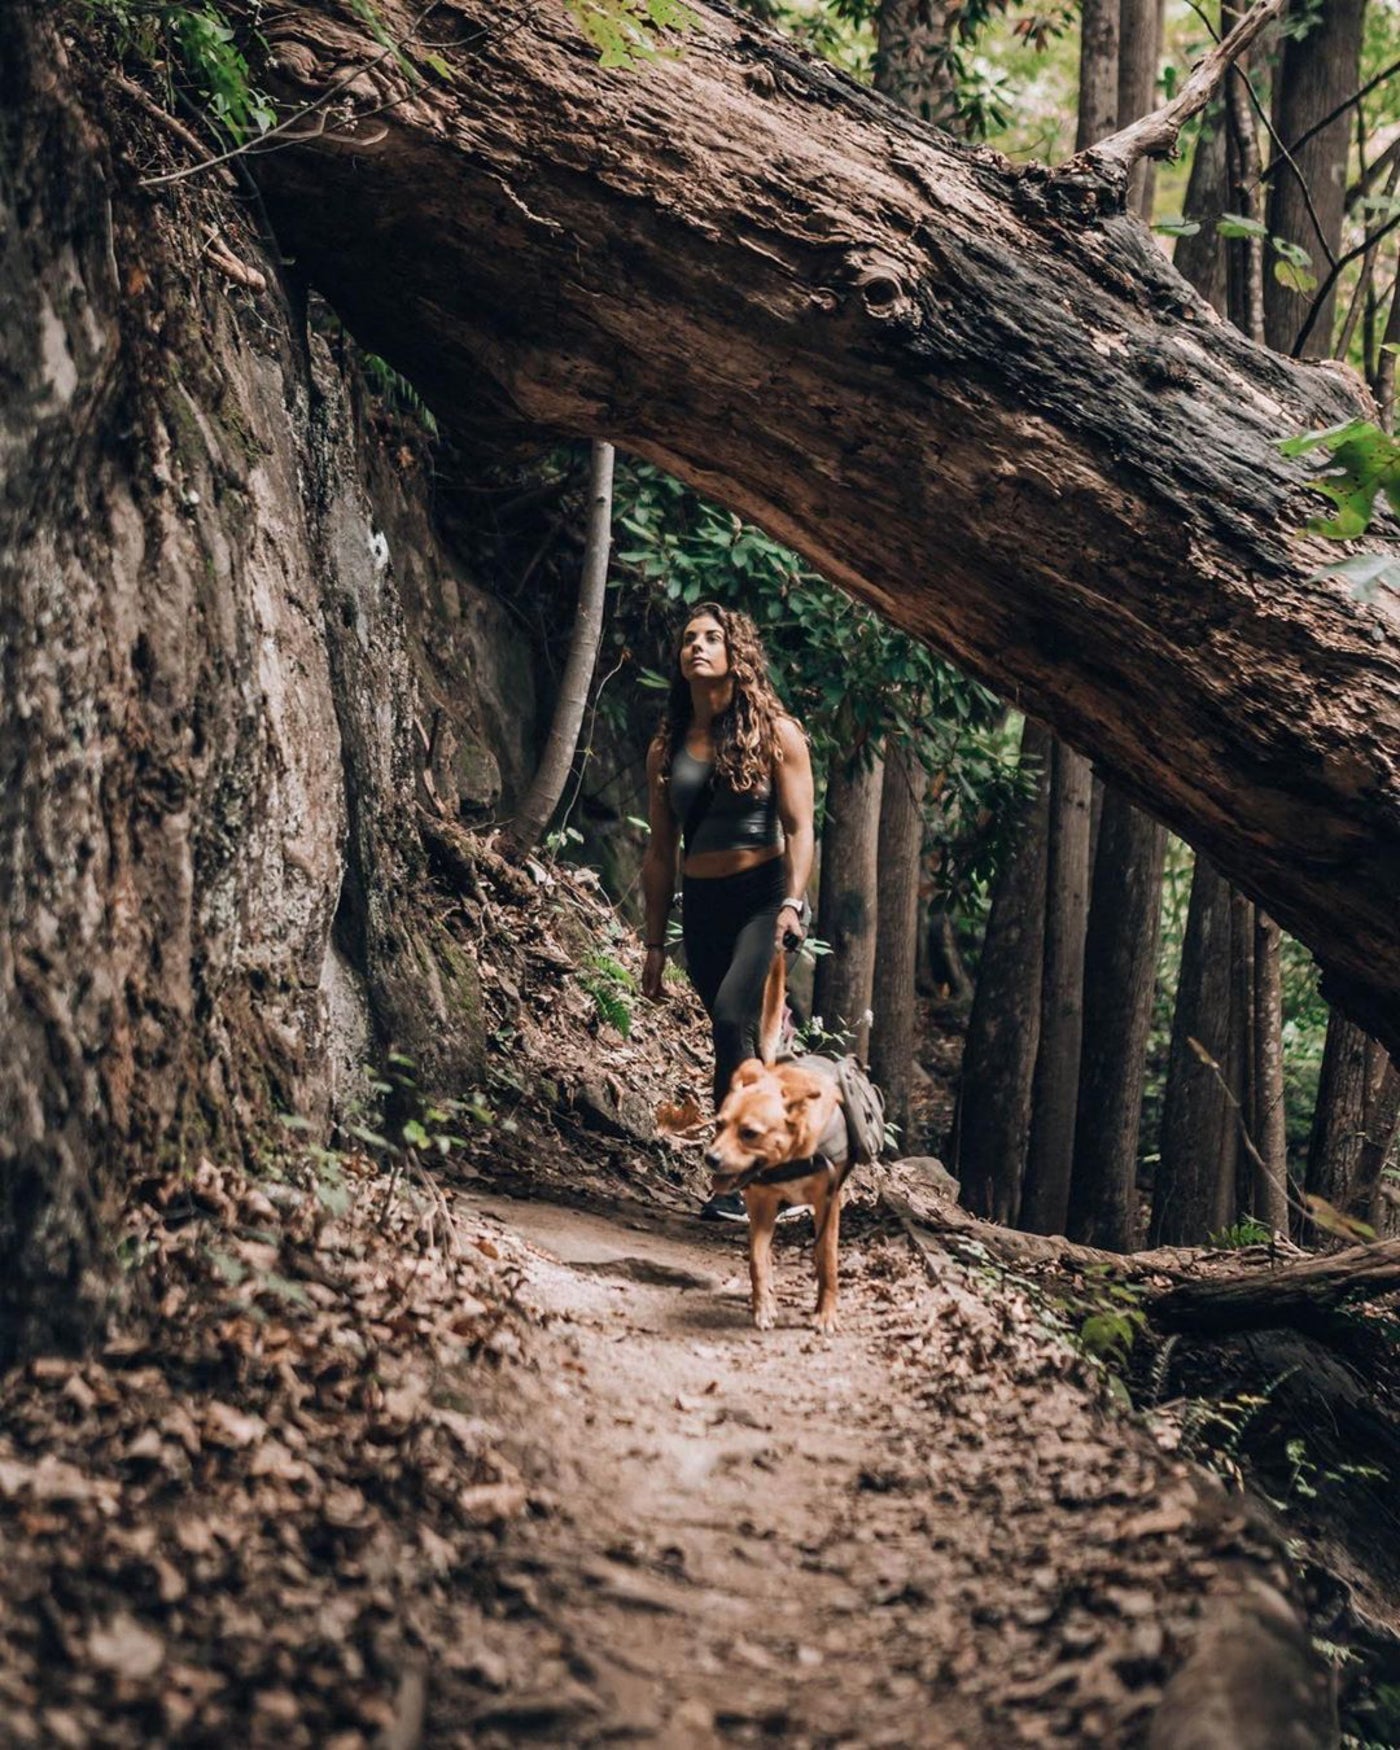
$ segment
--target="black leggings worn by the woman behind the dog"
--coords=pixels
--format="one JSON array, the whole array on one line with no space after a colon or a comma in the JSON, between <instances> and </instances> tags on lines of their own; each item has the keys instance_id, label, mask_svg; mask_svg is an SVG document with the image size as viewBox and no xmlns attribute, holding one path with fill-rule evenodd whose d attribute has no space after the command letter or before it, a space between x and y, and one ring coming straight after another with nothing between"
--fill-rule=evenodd
<instances>
[{"instance_id":1,"label":"black leggings worn by the woman behind the dog","mask_svg":"<svg viewBox=\"0 0 1400 1750\"><path fill-rule=\"evenodd\" d=\"M774 926L786 898L786 861L774 858L738 875L681 882L686 970L714 1032L714 1106L746 1057L758 1057L763 984L774 964Z\"/></svg>"}]
</instances>

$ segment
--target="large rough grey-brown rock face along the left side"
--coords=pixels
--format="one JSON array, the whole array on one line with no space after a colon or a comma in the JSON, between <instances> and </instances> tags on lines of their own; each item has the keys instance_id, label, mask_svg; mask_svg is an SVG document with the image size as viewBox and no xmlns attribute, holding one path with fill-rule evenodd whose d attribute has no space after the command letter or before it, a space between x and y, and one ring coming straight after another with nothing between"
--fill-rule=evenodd
<instances>
[{"instance_id":1,"label":"large rough grey-brown rock face along the left side","mask_svg":"<svg viewBox=\"0 0 1400 1750\"><path fill-rule=\"evenodd\" d=\"M530 690L275 266L212 264L236 215L136 194L23 7L0 86L2 1354L93 1332L124 1174L322 1125L373 1048L478 1073L416 810L520 780Z\"/></svg>"}]
</instances>

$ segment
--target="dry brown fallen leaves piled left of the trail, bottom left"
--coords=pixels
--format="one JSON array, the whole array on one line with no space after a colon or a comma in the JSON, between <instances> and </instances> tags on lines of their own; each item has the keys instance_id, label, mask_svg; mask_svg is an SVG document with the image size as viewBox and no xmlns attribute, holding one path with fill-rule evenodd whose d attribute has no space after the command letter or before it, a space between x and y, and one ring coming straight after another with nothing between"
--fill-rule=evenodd
<instances>
[{"instance_id":1,"label":"dry brown fallen leaves piled left of the trail, bottom left","mask_svg":"<svg viewBox=\"0 0 1400 1750\"><path fill-rule=\"evenodd\" d=\"M474 1409L513 1265L326 1171L138 1186L152 1316L0 1386L7 1745L359 1750L425 1648L471 1668L497 1528L548 1510Z\"/></svg>"}]
</instances>

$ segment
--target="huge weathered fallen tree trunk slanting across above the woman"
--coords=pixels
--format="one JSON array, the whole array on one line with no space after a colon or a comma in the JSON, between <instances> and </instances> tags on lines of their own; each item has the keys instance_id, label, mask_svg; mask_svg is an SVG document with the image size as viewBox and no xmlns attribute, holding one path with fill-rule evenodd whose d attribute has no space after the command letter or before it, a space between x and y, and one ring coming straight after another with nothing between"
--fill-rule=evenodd
<instances>
[{"instance_id":1,"label":"huge weathered fallen tree trunk slanting across above the woman","mask_svg":"<svg viewBox=\"0 0 1400 1750\"><path fill-rule=\"evenodd\" d=\"M1092 752L1400 1046L1396 607L1316 576L1278 452L1351 382L1218 322L1111 178L961 150L747 19L604 70L562 7L378 14L416 84L331 0L268 23L266 77L334 98L257 159L359 338L446 420L609 438L789 541Z\"/></svg>"}]
</instances>

